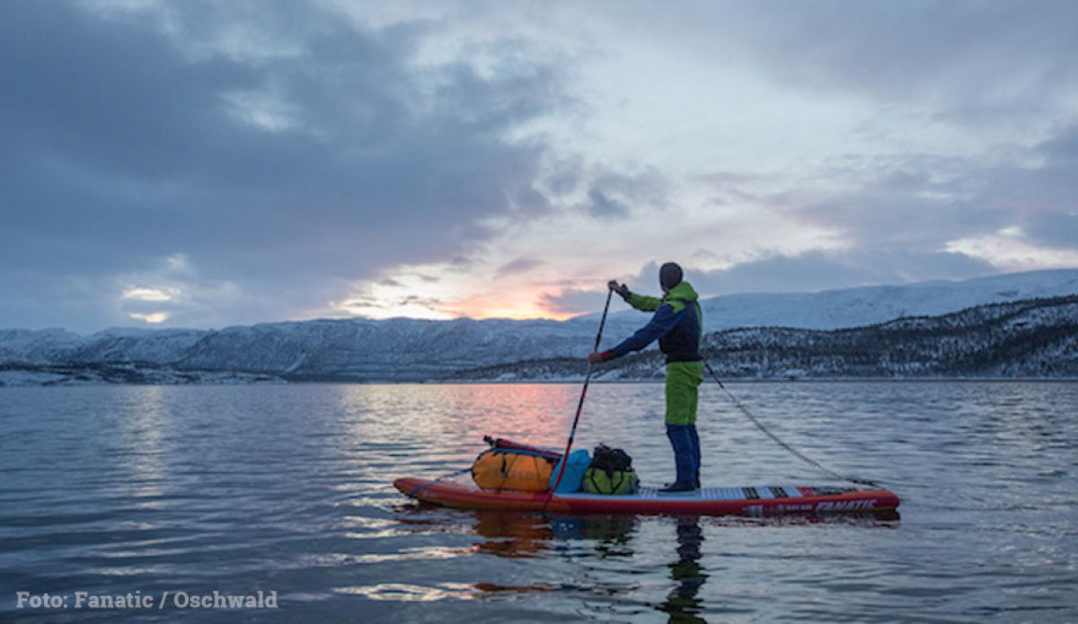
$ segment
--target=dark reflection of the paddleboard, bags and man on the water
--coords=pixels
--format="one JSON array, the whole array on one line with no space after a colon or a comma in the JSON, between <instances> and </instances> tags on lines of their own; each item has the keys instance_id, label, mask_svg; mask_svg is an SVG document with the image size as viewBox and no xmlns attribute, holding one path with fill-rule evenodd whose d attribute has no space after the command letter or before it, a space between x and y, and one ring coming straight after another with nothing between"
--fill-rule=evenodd
<instances>
[{"instance_id":1,"label":"dark reflection of the paddleboard, bags and man on the water","mask_svg":"<svg viewBox=\"0 0 1078 624\"><path fill-rule=\"evenodd\" d=\"M489 577L488 570L505 567L473 561L476 574L469 583L473 598L501 600L562 593L583 597L605 616L614 606L633 605L632 614L660 613L678 623L706 622L708 612L715 614L720 609L715 602L718 592L706 587L714 569L729 567L723 560L728 555L707 553L708 532L811 525L895 528L899 519L896 512L779 517L542 515L416 502L399 504L395 512L399 527L409 533L471 536L473 556L531 560L530 569L548 569L550 565L562 569L556 579L513 582L512 574ZM657 590L660 593L653 598L638 597Z\"/></svg>"}]
</instances>

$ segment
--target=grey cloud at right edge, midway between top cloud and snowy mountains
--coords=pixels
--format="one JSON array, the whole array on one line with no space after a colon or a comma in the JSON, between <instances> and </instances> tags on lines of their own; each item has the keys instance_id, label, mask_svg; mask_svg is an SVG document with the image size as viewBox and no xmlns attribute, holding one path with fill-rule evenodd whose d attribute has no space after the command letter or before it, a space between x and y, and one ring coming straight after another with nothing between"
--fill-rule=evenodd
<instances>
[{"instance_id":1,"label":"grey cloud at right edge, midway between top cloud and snowy mountains","mask_svg":"<svg viewBox=\"0 0 1078 624\"><path fill-rule=\"evenodd\" d=\"M1035 245L1073 247L1073 133L1060 130L1032 150L1015 147L999 164L984 156L847 156L819 176L821 184L841 181L841 192L744 196L806 227L838 232L863 253L931 254L954 240L1011 227L1021 227Z\"/></svg>"}]
</instances>

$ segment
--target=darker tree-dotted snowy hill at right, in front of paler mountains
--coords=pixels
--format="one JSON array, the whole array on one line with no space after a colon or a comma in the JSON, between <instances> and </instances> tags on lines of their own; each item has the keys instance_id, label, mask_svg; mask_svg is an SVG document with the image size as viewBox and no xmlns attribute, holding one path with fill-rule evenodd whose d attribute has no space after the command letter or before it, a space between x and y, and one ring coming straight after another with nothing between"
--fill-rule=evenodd
<instances>
[{"instance_id":1,"label":"darker tree-dotted snowy hill at right, in front of paler mountains","mask_svg":"<svg viewBox=\"0 0 1078 624\"><path fill-rule=\"evenodd\" d=\"M842 330L750 328L705 336L704 359L725 379L1078 377L1078 295L986 304ZM580 358L459 371L458 379L577 380ZM665 359L635 353L598 380L660 380Z\"/></svg>"}]
</instances>

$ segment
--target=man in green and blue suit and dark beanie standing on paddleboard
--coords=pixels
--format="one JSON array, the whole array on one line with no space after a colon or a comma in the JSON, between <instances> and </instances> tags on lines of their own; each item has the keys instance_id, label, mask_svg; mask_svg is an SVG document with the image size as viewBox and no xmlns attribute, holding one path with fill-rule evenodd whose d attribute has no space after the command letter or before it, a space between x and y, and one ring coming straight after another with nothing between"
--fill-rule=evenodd
<instances>
[{"instance_id":1,"label":"man in green and blue suit and dark beanie standing on paddleboard","mask_svg":"<svg viewBox=\"0 0 1078 624\"><path fill-rule=\"evenodd\" d=\"M691 491L700 488L700 436L696 434L697 388L704 382L704 364L700 355L703 317L699 296L683 280L681 267L667 262L659 269L659 286L663 297L630 292L617 280L608 283L625 303L654 316L635 334L608 351L595 351L588 361L596 364L638 351L659 341L666 353L666 436L674 447L677 481L660 491Z\"/></svg>"}]
</instances>

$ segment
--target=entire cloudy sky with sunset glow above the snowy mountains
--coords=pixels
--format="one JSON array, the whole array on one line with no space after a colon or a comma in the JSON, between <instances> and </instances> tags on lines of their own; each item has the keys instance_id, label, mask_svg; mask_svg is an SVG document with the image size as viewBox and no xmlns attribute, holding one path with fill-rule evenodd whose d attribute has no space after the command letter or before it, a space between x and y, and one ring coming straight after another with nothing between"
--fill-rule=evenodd
<instances>
[{"instance_id":1,"label":"entire cloudy sky with sunset glow above the snowy mountains","mask_svg":"<svg viewBox=\"0 0 1078 624\"><path fill-rule=\"evenodd\" d=\"M0 328L1078 266L1070 0L0 11Z\"/></svg>"}]
</instances>

